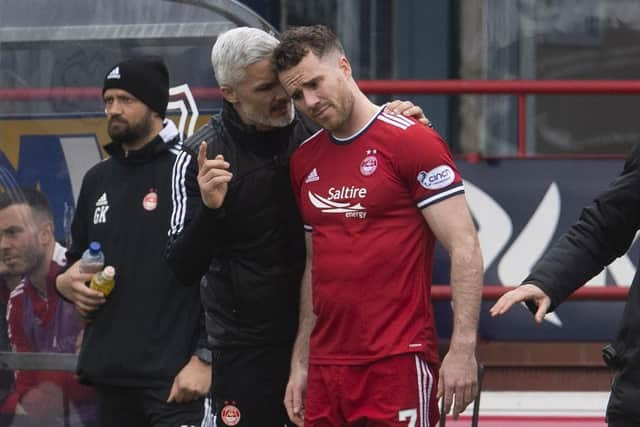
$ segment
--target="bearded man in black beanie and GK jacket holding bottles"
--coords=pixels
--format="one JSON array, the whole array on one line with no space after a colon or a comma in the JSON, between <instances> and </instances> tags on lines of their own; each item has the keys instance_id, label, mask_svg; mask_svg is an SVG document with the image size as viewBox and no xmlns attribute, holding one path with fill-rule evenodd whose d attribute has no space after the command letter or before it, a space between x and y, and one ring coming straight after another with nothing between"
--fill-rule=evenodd
<instances>
[{"instance_id":1,"label":"bearded man in black beanie and GK jacket holding bottles","mask_svg":"<svg viewBox=\"0 0 640 427\"><path fill-rule=\"evenodd\" d=\"M70 267L56 282L90 319L78 375L95 387L101 426L200 426L211 362L199 292L177 283L163 259L167 229L180 229L186 205L200 203L186 196L188 188L197 194L195 157L164 118L169 73L159 58L114 66L102 96L110 157L84 177ZM85 286L91 274L80 270L92 241L116 270L106 298Z\"/></svg>"}]
</instances>

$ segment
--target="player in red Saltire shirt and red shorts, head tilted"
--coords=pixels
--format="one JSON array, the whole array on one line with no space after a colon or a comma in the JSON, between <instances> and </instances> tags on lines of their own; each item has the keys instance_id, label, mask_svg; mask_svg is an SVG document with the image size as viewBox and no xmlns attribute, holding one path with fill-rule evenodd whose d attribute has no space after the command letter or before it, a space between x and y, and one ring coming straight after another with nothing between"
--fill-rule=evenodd
<instances>
[{"instance_id":1,"label":"player in red Saltire shirt and red shorts, head tilted","mask_svg":"<svg viewBox=\"0 0 640 427\"><path fill-rule=\"evenodd\" d=\"M483 269L445 142L371 103L324 26L285 31L274 62L296 106L324 128L290 165L308 233L289 416L307 427L433 426L444 396L457 417L477 391ZM429 288L436 239L451 258L455 306L439 375Z\"/></svg>"}]
</instances>

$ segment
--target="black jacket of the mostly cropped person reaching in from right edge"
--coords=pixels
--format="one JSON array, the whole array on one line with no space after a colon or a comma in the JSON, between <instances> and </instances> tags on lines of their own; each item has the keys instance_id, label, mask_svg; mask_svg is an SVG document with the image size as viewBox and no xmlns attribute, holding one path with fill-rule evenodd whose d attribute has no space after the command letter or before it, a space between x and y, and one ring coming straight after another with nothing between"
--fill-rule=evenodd
<instances>
[{"instance_id":1,"label":"black jacket of the mostly cropped person reaching in from right edge","mask_svg":"<svg viewBox=\"0 0 640 427\"><path fill-rule=\"evenodd\" d=\"M524 283L534 283L554 310L573 291L627 252L640 229L640 145L627 158L610 188L583 209L579 220L538 261ZM640 421L640 276L636 272L613 347L618 373L609 414L633 414ZM533 304L529 309L535 311Z\"/></svg>"}]
</instances>

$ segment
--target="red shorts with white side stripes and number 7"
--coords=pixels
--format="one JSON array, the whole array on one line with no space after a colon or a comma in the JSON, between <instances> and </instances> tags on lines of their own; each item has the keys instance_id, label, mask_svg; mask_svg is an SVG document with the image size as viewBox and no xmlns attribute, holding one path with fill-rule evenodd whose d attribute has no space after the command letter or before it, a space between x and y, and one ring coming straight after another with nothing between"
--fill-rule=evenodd
<instances>
[{"instance_id":1,"label":"red shorts with white side stripes and number 7","mask_svg":"<svg viewBox=\"0 0 640 427\"><path fill-rule=\"evenodd\" d=\"M368 365L310 365L305 427L435 427L437 373L417 354Z\"/></svg>"}]
</instances>

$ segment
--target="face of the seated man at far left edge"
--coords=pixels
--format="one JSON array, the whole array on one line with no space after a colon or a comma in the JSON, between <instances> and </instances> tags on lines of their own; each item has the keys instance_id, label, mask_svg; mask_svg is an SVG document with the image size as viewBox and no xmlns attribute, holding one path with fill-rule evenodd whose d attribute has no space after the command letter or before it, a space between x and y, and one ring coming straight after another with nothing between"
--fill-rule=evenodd
<instances>
[{"instance_id":1,"label":"face of the seated man at far left edge","mask_svg":"<svg viewBox=\"0 0 640 427\"><path fill-rule=\"evenodd\" d=\"M29 274L44 256L31 208L15 204L0 209L0 260L8 274Z\"/></svg>"}]
</instances>

